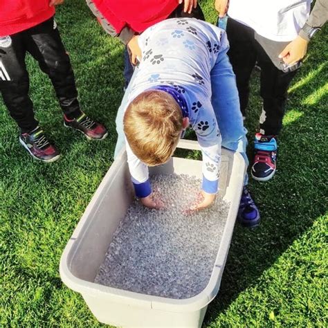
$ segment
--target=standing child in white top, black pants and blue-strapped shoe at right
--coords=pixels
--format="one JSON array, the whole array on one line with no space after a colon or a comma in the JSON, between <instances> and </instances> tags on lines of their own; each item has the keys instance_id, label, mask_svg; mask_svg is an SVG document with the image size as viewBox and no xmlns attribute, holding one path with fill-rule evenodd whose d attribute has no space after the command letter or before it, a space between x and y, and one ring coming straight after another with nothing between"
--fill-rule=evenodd
<instances>
[{"instance_id":1,"label":"standing child in white top, black pants and blue-strapped shoe at right","mask_svg":"<svg viewBox=\"0 0 328 328\"><path fill-rule=\"evenodd\" d=\"M267 181L275 174L277 135L282 128L287 89L307 53L307 44L325 24L328 1L316 0L216 0L219 17L228 11L228 52L237 78L240 107L246 115L250 74L261 68L263 98L259 133L255 134L252 176Z\"/></svg>"}]
</instances>

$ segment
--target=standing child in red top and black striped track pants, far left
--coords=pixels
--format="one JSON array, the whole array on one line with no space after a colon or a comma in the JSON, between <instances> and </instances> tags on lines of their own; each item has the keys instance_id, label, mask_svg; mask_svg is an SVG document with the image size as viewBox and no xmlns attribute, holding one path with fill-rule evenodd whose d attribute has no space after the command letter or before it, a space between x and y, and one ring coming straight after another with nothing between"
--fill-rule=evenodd
<instances>
[{"instance_id":1,"label":"standing child in red top and black striped track pants, far left","mask_svg":"<svg viewBox=\"0 0 328 328\"><path fill-rule=\"evenodd\" d=\"M54 6L62 2L0 1L0 91L10 116L19 126L19 142L33 158L44 162L56 161L60 152L49 143L35 119L33 103L28 96L26 52L51 78L64 111L64 126L82 132L89 139L102 140L107 136L105 127L80 109L69 55L53 19Z\"/></svg>"}]
</instances>

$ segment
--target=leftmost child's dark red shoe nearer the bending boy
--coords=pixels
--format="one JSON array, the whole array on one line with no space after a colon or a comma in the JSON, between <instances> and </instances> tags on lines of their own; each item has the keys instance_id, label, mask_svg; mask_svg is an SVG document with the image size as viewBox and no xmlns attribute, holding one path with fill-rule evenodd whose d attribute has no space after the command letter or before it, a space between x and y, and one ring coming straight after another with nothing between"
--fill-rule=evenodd
<instances>
[{"instance_id":1,"label":"leftmost child's dark red shoe nearer the bending boy","mask_svg":"<svg viewBox=\"0 0 328 328\"><path fill-rule=\"evenodd\" d=\"M69 120L64 115L64 126L82 132L89 140L102 140L108 136L107 129L104 125L91 120L85 113L81 113L78 118L74 118L73 120Z\"/></svg>"}]
</instances>

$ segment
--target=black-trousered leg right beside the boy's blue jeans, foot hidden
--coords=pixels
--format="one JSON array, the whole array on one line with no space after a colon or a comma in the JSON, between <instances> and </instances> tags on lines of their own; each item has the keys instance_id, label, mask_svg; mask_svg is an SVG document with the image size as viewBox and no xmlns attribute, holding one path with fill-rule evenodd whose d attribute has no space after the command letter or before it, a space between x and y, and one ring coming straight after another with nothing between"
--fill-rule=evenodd
<instances>
[{"instance_id":1,"label":"black-trousered leg right beside the boy's blue jeans, foot hidden","mask_svg":"<svg viewBox=\"0 0 328 328\"><path fill-rule=\"evenodd\" d=\"M257 59L254 30L228 19L227 35L230 44L228 56L236 75L240 110L246 115L249 98L249 80Z\"/></svg>"}]
</instances>

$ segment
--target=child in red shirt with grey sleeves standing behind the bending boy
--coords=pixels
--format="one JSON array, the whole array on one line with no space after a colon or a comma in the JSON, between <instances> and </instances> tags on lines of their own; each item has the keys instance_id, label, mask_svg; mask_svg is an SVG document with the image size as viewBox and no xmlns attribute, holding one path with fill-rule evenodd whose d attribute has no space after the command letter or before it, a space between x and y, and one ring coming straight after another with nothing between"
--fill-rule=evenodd
<instances>
[{"instance_id":1,"label":"child in red shirt with grey sleeves standing behind the bending boy","mask_svg":"<svg viewBox=\"0 0 328 328\"><path fill-rule=\"evenodd\" d=\"M140 57L138 35L167 18L194 17L204 20L197 0L86 0L93 14L104 30L113 37L119 37L125 47L125 89L134 73L132 64Z\"/></svg>"}]
</instances>

